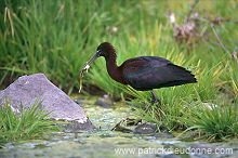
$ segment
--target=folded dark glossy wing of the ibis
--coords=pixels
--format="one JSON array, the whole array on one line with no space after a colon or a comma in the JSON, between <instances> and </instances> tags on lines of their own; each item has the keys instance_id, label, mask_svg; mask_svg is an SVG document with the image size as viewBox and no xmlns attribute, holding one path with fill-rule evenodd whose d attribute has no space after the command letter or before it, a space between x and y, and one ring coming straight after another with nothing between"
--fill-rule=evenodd
<instances>
[{"instance_id":1,"label":"folded dark glossy wing of the ibis","mask_svg":"<svg viewBox=\"0 0 238 158\"><path fill-rule=\"evenodd\" d=\"M196 82L190 71L162 57L140 56L125 61L121 66L124 80L136 90Z\"/></svg>"}]
</instances>

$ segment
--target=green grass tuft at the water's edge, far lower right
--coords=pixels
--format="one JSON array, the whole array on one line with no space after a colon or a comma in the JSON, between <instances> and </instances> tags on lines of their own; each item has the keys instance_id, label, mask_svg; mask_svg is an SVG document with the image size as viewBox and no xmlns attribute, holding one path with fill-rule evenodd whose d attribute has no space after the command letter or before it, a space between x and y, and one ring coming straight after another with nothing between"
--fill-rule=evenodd
<instances>
[{"instance_id":1,"label":"green grass tuft at the water's edge, far lower right","mask_svg":"<svg viewBox=\"0 0 238 158\"><path fill-rule=\"evenodd\" d=\"M226 139L238 136L238 106L226 105L219 107L210 104L209 107L203 104L195 105L189 113L184 113L184 118L177 118L187 127L188 130L196 129L198 133L209 140Z\"/></svg>"}]
</instances>

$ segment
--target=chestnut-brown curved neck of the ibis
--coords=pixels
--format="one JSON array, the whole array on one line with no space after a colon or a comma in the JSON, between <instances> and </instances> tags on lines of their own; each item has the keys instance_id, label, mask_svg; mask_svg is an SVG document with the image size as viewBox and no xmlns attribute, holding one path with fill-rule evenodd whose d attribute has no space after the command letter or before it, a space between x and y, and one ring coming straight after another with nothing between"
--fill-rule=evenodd
<instances>
[{"instance_id":1,"label":"chestnut-brown curved neck of the ibis","mask_svg":"<svg viewBox=\"0 0 238 158\"><path fill-rule=\"evenodd\" d=\"M117 66L116 53L111 54L110 56L105 57L105 60L106 60L106 67L107 67L107 71L108 71L109 76L114 80L116 80L122 84L127 84L123 79L122 70Z\"/></svg>"}]
</instances>

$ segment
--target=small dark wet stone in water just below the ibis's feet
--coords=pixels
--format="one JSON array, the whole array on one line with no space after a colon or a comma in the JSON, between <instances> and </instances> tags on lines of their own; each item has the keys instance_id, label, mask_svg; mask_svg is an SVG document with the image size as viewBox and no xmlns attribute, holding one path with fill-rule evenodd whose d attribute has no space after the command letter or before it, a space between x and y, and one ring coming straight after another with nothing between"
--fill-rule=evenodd
<instances>
[{"instance_id":1,"label":"small dark wet stone in water just below the ibis's feet","mask_svg":"<svg viewBox=\"0 0 238 158\"><path fill-rule=\"evenodd\" d=\"M134 133L135 134L156 133L157 128L158 128L157 123L145 122L145 123L137 126L134 130Z\"/></svg>"}]
</instances>

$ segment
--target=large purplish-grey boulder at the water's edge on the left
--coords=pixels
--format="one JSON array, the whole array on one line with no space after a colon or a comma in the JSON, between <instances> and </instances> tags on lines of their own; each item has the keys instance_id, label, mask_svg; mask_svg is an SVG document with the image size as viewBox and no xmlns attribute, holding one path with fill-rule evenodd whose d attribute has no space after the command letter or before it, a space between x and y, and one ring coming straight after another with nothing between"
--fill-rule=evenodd
<instances>
[{"instance_id":1,"label":"large purplish-grey boulder at the water's edge on the left","mask_svg":"<svg viewBox=\"0 0 238 158\"><path fill-rule=\"evenodd\" d=\"M68 123L67 128L74 130L92 130L95 128L83 109L50 82L43 74L19 77L5 90L0 91L0 105L10 100L12 109L15 111L18 111L21 104L27 108L38 98L39 102L42 102L41 107L52 113L51 118L74 122L72 124Z\"/></svg>"}]
</instances>

